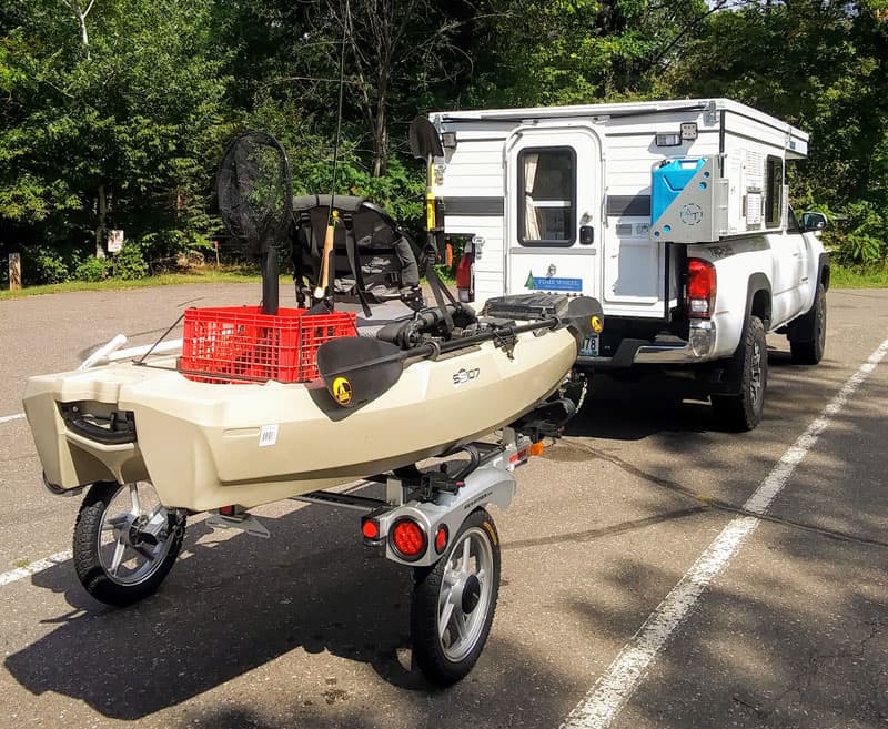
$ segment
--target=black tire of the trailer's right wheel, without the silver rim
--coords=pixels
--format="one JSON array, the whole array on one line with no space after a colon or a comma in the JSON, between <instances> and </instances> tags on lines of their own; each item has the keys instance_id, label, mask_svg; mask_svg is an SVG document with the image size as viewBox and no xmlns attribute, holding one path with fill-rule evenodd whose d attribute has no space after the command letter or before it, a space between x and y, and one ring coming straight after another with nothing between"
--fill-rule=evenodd
<instances>
[{"instance_id":1,"label":"black tire of the trailer's right wheel, without the silver rim","mask_svg":"<svg viewBox=\"0 0 888 729\"><path fill-rule=\"evenodd\" d=\"M463 544L464 537L484 535L491 549L491 575L483 589L490 590L475 609L486 609L478 616L480 630L471 642L466 655L458 660L447 656L438 637L438 608L444 587L444 573L453 559L454 551ZM451 540L444 556L432 567L414 570L413 599L411 603L411 631L413 637L413 659L425 677L440 686L451 686L465 678L474 667L493 625L496 600L500 595L500 535L491 515L477 508L463 522L456 537Z\"/></svg>"}]
</instances>

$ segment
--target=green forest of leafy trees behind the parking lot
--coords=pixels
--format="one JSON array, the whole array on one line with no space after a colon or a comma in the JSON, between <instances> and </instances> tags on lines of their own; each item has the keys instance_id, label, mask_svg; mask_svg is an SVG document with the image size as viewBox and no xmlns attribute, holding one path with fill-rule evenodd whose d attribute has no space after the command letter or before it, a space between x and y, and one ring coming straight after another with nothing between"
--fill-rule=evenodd
<instances>
[{"instance_id":1,"label":"green forest of leafy trees behind the parking lot","mask_svg":"<svg viewBox=\"0 0 888 729\"><path fill-rule=\"evenodd\" d=\"M336 192L414 231L417 114L727 97L810 132L793 203L837 222L840 262L886 265L886 0L6 0L0 261L21 252L27 284L105 277L110 229L124 279L212 251L243 129L284 143L297 194L327 192L343 51Z\"/></svg>"}]
</instances>

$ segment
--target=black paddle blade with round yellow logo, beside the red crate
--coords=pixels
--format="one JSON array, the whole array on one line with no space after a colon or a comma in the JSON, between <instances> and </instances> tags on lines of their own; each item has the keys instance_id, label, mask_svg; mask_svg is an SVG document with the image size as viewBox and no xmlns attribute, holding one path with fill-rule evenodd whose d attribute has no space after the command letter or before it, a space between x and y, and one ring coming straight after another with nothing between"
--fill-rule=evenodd
<instances>
[{"instance_id":1,"label":"black paddle blade with round yellow logo, beside the red crate","mask_svg":"<svg viewBox=\"0 0 888 729\"><path fill-rule=\"evenodd\" d=\"M327 392L342 407L376 399L400 378L401 347L367 336L346 336L317 348L317 371Z\"/></svg>"}]
</instances>

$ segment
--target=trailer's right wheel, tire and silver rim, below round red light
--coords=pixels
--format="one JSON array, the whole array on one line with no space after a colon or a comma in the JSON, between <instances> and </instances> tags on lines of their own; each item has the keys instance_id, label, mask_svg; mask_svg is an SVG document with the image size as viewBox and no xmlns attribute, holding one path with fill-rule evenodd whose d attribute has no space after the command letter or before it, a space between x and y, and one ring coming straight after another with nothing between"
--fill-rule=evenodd
<instances>
[{"instance_id":1,"label":"trailer's right wheel, tire and silver rim, below round red light","mask_svg":"<svg viewBox=\"0 0 888 729\"><path fill-rule=\"evenodd\" d=\"M496 609L500 537L491 515L472 512L446 554L414 577L413 657L428 679L455 684L481 656Z\"/></svg>"}]
</instances>

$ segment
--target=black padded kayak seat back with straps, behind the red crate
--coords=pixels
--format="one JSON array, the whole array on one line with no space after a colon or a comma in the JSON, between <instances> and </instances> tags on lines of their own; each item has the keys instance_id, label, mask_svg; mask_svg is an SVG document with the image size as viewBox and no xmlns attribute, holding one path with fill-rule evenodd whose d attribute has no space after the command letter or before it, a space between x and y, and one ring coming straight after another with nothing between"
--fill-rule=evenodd
<instances>
[{"instance_id":1,"label":"black padded kayak seat back with straps, behind the red crate","mask_svg":"<svg viewBox=\"0 0 888 729\"><path fill-rule=\"evenodd\" d=\"M382 207L353 195L293 199L290 240L300 306L311 300L320 280L331 204L339 221L330 272L334 300L361 304L403 301L414 310L422 308L418 249Z\"/></svg>"}]
</instances>

